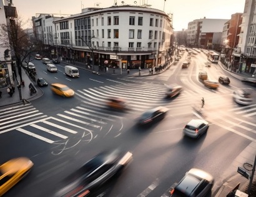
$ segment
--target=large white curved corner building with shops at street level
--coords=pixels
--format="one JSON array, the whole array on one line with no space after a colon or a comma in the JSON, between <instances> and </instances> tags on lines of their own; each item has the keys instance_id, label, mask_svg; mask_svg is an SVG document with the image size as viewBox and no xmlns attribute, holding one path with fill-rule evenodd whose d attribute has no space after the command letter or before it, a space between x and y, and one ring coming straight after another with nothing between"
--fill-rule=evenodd
<instances>
[{"instance_id":1,"label":"large white curved corner building with shops at street level","mask_svg":"<svg viewBox=\"0 0 256 197\"><path fill-rule=\"evenodd\" d=\"M172 18L158 9L89 7L80 14L54 19L53 26L62 59L122 69L157 67L170 60Z\"/></svg>"}]
</instances>

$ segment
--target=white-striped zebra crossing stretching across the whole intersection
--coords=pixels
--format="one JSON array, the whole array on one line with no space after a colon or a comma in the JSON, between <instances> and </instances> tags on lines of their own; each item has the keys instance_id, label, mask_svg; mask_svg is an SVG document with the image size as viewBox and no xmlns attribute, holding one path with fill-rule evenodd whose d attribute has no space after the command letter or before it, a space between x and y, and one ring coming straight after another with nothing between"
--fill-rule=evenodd
<instances>
[{"instance_id":1,"label":"white-striped zebra crossing stretching across the whole intersection","mask_svg":"<svg viewBox=\"0 0 256 197\"><path fill-rule=\"evenodd\" d=\"M51 144L66 143L72 136L91 142L97 135L106 135L102 130L114 131L115 135L119 135L122 132L122 118L139 116L149 108L164 106L170 108L170 113L174 116L192 113L192 107L200 105L202 97L205 100L204 109L209 113L223 113L225 109L227 113L245 118L256 115L256 104L239 106L233 102L232 94L220 96L207 90L185 89L177 97L166 99L166 90L164 84L145 82L81 89L76 91L81 104L59 112L54 117L44 115L32 104L3 108L0 111L0 134L16 130ZM129 110L111 110L106 105L111 96L126 99Z\"/></svg>"}]
</instances>

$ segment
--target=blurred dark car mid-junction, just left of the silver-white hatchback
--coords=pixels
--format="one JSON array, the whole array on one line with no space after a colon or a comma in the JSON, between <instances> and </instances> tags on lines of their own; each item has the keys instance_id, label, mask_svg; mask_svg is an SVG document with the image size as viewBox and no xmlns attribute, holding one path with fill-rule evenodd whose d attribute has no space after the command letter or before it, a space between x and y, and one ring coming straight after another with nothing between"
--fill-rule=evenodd
<instances>
[{"instance_id":1,"label":"blurred dark car mid-junction, just left of the silver-white hatchback","mask_svg":"<svg viewBox=\"0 0 256 197\"><path fill-rule=\"evenodd\" d=\"M169 108L166 107L155 107L150 110L145 111L139 118L139 125L147 125L150 123L158 122L166 116Z\"/></svg>"}]
</instances>

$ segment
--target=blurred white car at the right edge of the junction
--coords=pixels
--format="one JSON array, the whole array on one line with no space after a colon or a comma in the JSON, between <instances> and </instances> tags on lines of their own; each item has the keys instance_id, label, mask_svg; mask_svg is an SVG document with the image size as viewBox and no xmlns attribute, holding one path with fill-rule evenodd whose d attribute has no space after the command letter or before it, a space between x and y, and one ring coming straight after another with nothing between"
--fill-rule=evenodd
<instances>
[{"instance_id":1,"label":"blurred white car at the right edge of the junction","mask_svg":"<svg viewBox=\"0 0 256 197\"><path fill-rule=\"evenodd\" d=\"M251 89L238 89L233 92L233 99L241 105L250 105L253 102Z\"/></svg>"}]
</instances>

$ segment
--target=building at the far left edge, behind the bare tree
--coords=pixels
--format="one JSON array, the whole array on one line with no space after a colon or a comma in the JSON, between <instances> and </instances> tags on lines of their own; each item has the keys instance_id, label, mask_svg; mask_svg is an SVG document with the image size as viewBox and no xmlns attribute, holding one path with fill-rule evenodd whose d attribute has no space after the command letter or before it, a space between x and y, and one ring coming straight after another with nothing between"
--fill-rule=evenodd
<instances>
[{"instance_id":1,"label":"building at the far left edge, behind the bare tree","mask_svg":"<svg viewBox=\"0 0 256 197\"><path fill-rule=\"evenodd\" d=\"M0 7L0 24L8 26L10 17L17 17L16 7L12 6L12 1L7 0L0 1ZM0 41L0 89L14 84L13 78L14 72L16 72L15 62L12 61L11 49L9 47L2 47L5 45L6 43Z\"/></svg>"}]
</instances>

